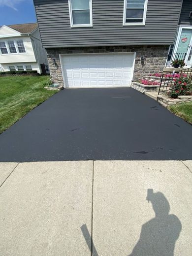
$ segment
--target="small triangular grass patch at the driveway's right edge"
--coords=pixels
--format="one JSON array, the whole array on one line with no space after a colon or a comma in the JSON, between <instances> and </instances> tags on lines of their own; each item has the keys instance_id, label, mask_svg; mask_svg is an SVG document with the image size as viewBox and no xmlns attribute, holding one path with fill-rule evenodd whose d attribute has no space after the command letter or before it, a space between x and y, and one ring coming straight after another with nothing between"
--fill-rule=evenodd
<instances>
[{"instance_id":1,"label":"small triangular grass patch at the driveway's right edge","mask_svg":"<svg viewBox=\"0 0 192 256\"><path fill-rule=\"evenodd\" d=\"M172 105L169 110L192 124L192 102Z\"/></svg>"}]
</instances>

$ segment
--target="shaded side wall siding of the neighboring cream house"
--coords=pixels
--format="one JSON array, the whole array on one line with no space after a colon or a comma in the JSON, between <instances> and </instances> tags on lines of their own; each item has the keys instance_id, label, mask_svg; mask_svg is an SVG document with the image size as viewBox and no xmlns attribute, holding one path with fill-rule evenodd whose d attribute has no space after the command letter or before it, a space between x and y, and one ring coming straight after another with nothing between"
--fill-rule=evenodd
<instances>
[{"instance_id":1,"label":"shaded side wall siding of the neighboring cream house","mask_svg":"<svg viewBox=\"0 0 192 256\"><path fill-rule=\"evenodd\" d=\"M39 64L48 65L47 52L42 47L41 38L38 30L32 33L31 39L32 39L32 46Z\"/></svg>"}]
</instances>

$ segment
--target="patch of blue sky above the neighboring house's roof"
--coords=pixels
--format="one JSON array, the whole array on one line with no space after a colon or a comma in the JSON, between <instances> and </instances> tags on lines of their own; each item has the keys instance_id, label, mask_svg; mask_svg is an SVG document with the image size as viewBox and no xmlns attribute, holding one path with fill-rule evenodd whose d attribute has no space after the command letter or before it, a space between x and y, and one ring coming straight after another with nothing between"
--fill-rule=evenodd
<instances>
[{"instance_id":1,"label":"patch of blue sky above the neighboring house's roof","mask_svg":"<svg viewBox=\"0 0 192 256\"><path fill-rule=\"evenodd\" d=\"M36 22L33 0L0 0L0 26Z\"/></svg>"}]
</instances>

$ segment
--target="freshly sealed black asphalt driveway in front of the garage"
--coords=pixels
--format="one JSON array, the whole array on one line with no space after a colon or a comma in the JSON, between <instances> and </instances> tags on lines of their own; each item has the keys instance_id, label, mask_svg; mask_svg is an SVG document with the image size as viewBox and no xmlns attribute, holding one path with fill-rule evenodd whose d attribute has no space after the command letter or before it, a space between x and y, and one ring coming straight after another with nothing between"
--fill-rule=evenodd
<instances>
[{"instance_id":1,"label":"freshly sealed black asphalt driveway in front of the garage","mask_svg":"<svg viewBox=\"0 0 192 256\"><path fill-rule=\"evenodd\" d=\"M0 135L0 161L192 160L192 126L131 88L63 90Z\"/></svg>"}]
</instances>

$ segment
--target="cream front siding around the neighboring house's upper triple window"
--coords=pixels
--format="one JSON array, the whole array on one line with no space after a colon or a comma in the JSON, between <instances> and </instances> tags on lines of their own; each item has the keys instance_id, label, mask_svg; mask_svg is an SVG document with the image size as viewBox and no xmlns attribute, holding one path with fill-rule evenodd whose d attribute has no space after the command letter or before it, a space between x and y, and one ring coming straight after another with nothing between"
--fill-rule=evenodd
<instances>
[{"instance_id":1,"label":"cream front siding around the neighboring house's upper triple window","mask_svg":"<svg viewBox=\"0 0 192 256\"><path fill-rule=\"evenodd\" d=\"M26 49L26 53L14 53L14 54L0 54L0 64L2 63L22 63L22 62L36 62L32 42L30 37L11 37L11 40L22 39L24 42L24 46ZM6 39L0 39L0 41L4 41ZM10 40L10 38L9 38Z\"/></svg>"}]
</instances>

